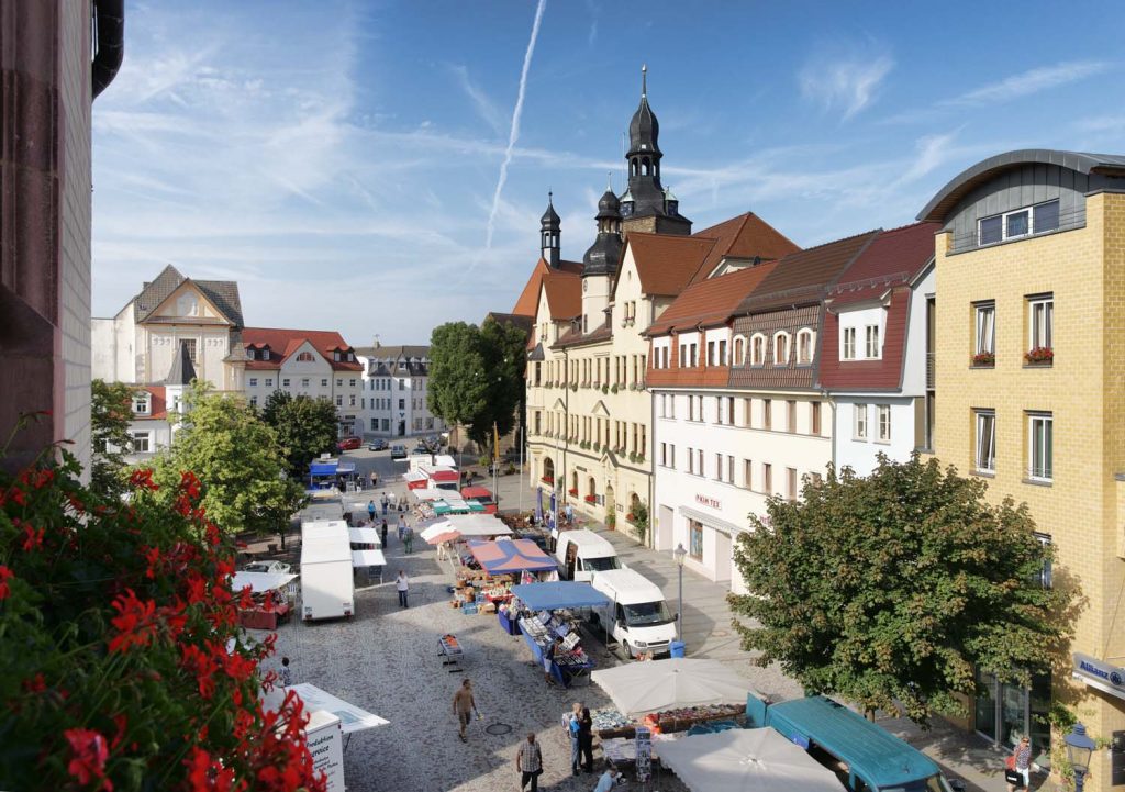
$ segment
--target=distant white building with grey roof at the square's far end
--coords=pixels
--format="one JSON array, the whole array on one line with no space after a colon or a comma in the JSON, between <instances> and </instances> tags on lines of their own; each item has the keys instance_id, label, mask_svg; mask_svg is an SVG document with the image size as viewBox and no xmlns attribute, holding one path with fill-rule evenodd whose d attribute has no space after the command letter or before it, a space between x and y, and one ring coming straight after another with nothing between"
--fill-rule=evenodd
<instances>
[{"instance_id":1,"label":"distant white building with grey roof at the square's far end","mask_svg":"<svg viewBox=\"0 0 1125 792\"><path fill-rule=\"evenodd\" d=\"M443 432L446 422L430 412L430 348L423 345L361 346L362 429L380 438Z\"/></svg>"}]
</instances>

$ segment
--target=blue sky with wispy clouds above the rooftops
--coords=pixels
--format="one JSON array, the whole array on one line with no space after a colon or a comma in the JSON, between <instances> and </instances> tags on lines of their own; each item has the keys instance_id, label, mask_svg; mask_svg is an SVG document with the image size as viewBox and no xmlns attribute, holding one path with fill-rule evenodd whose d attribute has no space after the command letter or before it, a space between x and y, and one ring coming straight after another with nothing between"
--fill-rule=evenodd
<instances>
[{"instance_id":1,"label":"blue sky with wispy clouds above the rooftops","mask_svg":"<svg viewBox=\"0 0 1125 792\"><path fill-rule=\"evenodd\" d=\"M641 63L696 230L753 210L812 245L909 223L1001 151L1125 153L1116 3L546 0L497 199L537 4L127 3L94 315L168 262L237 280L250 325L356 345L508 310L548 188L568 259L622 189Z\"/></svg>"}]
</instances>

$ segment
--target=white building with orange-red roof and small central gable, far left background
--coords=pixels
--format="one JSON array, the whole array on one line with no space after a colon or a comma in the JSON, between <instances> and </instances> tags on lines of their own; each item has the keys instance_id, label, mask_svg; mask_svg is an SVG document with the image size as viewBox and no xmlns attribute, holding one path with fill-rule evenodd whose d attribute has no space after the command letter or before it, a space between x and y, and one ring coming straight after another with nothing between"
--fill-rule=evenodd
<instances>
[{"instance_id":1,"label":"white building with orange-red roof and small central gable, far left background","mask_svg":"<svg viewBox=\"0 0 1125 792\"><path fill-rule=\"evenodd\" d=\"M246 399L262 407L274 390L326 398L336 408L341 436L361 428L363 366L335 331L245 327Z\"/></svg>"}]
</instances>

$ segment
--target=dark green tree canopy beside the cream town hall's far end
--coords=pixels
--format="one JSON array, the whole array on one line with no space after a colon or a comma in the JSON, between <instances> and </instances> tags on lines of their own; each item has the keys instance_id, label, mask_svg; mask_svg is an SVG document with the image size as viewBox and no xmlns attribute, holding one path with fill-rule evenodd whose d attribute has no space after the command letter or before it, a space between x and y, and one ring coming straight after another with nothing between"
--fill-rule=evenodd
<instances>
[{"instance_id":1,"label":"dark green tree canopy beside the cream town hall's far end","mask_svg":"<svg viewBox=\"0 0 1125 792\"><path fill-rule=\"evenodd\" d=\"M468 429L469 438L487 447L493 424L501 434L512 430L523 400L526 335L494 320L483 327L451 322L430 339L430 412L449 424Z\"/></svg>"}]
</instances>

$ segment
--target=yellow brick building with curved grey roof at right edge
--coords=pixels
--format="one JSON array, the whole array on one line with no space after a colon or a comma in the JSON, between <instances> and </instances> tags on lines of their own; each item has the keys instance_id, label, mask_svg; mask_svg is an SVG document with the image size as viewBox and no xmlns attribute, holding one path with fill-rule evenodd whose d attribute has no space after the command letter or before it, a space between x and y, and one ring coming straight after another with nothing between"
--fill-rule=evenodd
<instances>
[{"instance_id":1,"label":"yellow brick building with curved grey roof at right edge","mask_svg":"<svg viewBox=\"0 0 1125 792\"><path fill-rule=\"evenodd\" d=\"M991 695L966 726L1005 748L1029 732L1041 754L1059 701L1108 739L1125 730L1125 156L993 156L918 218L943 224L933 451L984 477L990 501L1026 502L1058 551L1044 583L1081 597L1051 678L981 680ZM1109 750L1086 789L1110 789Z\"/></svg>"}]
</instances>

